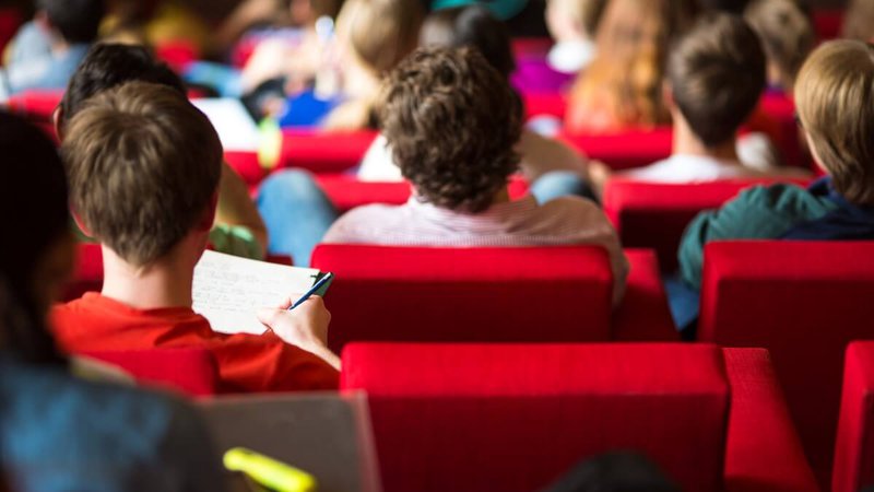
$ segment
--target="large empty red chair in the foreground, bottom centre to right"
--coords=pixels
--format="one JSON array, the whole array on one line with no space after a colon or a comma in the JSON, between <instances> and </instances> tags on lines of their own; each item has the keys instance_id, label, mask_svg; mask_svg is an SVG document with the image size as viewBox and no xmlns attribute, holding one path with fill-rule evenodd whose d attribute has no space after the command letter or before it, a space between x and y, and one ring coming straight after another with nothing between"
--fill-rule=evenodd
<instances>
[{"instance_id":1,"label":"large empty red chair in the foreground, bottom centre to right","mask_svg":"<svg viewBox=\"0 0 874 492\"><path fill-rule=\"evenodd\" d=\"M687 491L816 490L764 351L354 343L341 388L368 394L387 492L539 490L614 449Z\"/></svg>"}]
</instances>

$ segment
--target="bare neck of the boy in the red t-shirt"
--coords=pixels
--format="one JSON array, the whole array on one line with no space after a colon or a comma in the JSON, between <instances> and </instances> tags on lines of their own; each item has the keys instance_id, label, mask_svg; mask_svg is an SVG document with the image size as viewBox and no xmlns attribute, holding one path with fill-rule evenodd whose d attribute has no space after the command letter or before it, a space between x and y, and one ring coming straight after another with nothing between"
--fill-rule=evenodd
<instances>
[{"instance_id":1,"label":"bare neck of the boy in the red t-shirt","mask_svg":"<svg viewBox=\"0 0 874 492\"><path fill-rule=\"evenodd\" d=\"M191 307L194 265L199 259L186 244L143 267L133 266L103 247L102 294L138 309ZM202 249L201 249L202 251Z\"/></svg>"}]
</instances>

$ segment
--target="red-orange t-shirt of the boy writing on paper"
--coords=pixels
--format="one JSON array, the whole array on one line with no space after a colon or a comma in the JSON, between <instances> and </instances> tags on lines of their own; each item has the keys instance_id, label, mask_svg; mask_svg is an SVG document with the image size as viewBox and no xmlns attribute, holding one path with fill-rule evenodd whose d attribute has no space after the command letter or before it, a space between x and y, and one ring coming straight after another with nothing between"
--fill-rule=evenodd
<instances>
[{"instance_id":1,"label":"red-orange t-shirt of the boy writing on paper","mask_svg":"<svg viewBox=\"0 0 874 492\"><path fill-rule=\"evenodd\" d=\"M222 393L336 389L339 373L318 356L272 332L224 335L188 307L135 309L97 293L51 313L55 336L68 352L202 347L218 365Z\"/></svg>"}]
</instances>

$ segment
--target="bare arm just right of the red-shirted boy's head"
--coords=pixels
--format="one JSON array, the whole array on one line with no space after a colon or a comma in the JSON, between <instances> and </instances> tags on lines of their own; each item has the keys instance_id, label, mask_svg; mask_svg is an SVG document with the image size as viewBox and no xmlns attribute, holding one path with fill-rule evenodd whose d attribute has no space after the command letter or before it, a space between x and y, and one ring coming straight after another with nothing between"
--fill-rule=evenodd
<instances>
[{"instance_id":1,"label":"bare arm just right of the red-shirted boy's head","mask_svg":"<svg viewBox=\"0 0 874 492\"><path fill-rule=\"evenodd\" d=\"M248 229L261 249L267 250L267 226L261 214L249 197L249 189L227 163L222 164L222 180L218 184L218 207L215 211L215 223L243 226Z\"/></svg>"}]
</instances>

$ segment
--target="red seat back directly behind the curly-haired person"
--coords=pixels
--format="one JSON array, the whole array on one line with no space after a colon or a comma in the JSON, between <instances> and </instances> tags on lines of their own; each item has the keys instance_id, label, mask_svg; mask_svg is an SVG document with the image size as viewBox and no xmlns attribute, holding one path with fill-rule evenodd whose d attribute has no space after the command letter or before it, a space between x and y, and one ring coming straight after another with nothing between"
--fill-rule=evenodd
<instances>
[{"instance_id":1,"label":"red seat back directly behind the curly-haired person","mask_svg":"<svg viewBox=\"0 0 874 492\"><path fill-rule=\"evenodd\" d=\"M599 247L319 245L312 267L336 276L327 302L338 352L362 340L610 339L613 274Z\"/></svg>"}]
</instances>

